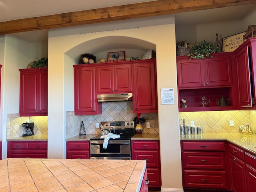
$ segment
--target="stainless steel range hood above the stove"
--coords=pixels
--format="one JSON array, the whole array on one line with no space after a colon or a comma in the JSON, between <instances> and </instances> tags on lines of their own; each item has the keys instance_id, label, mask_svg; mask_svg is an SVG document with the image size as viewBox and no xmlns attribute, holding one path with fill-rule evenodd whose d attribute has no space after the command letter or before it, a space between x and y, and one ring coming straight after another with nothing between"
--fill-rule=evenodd
<instances>
[{"instance_id":1,"label":"stainless steel range hood above the stove","mask_svg":"<svg viewBox=\"0 0 256 192\"><path fill-rule=\"evenodd\" d=\"M132 93L100 94L97 95L97 98L98 102L130 101L132 100Z\"/></svg>"}]
</instances>

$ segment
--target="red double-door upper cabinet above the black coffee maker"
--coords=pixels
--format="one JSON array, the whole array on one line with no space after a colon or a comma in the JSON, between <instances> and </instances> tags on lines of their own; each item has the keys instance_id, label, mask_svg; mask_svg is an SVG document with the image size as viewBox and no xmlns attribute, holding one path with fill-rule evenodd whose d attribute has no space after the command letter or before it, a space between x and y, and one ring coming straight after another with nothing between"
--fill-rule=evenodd
<instances>
[{"instance_id":1,"label":"red double-door upper cabinet above the black coffee maker","mask_svg":"<svg viewBox=\"0 0 256 192\"><path fill-rule=\"evenodd\" d=\"M20 116L46 116L48 68L20 69Z\"/></svg>"}]
</instances>

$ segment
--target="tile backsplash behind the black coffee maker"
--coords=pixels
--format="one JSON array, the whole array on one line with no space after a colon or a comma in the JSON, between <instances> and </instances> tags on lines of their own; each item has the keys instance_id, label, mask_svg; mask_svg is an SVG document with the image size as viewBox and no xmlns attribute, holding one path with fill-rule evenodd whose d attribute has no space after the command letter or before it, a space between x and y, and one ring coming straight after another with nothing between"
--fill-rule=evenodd
<instances>
[{"instance_id":1,"label":"tile backsplash behind the black coffee maker","mask_svg":"<svg viewBox=\"0 0 256 192\"><path fill-rule=\"evenodd\" d=\"M34 122L34 134L48 134L48 116L20 117L20 114L7 114L7 138L20 137L24 134L22 123Z\"/></svg>"}]
</instances>

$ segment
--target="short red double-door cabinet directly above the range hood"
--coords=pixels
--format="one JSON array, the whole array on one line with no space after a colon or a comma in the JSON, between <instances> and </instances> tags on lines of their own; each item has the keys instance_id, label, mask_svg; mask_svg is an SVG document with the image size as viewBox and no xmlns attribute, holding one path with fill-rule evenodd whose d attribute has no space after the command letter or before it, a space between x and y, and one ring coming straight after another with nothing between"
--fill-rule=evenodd
<instances>
[{"instance_id":1,"label":"short red double-door cabinet directly above the range hood","mask_svg":"<svg viewBox=\"0 0 256 192\"><path fill-rule=\"evenodd\" d=\"M131 93L131 65L118 64L96 68L98 94Z\"/></svg>"}]
</instances>

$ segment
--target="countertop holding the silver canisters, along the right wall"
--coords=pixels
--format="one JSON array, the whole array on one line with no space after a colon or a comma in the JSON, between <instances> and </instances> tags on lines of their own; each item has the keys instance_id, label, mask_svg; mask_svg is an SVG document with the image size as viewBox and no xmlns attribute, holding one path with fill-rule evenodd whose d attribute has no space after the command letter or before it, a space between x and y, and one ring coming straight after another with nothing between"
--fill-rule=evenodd
<instances>
[{"instance_id":1,"label":"countertop holding the silver canisters, along the right wall","mask_svg":"<svg viewBox=\"0 0 256 192\"><path fill-rule=\"evenodd\" d=\"M256 154L256 134L228 134L228 133L210 133L210 134L198 134L198 135L180 135L181 141L218 141L226 140L230 143L236 144L249 152Z\"/></svg>"}]
</instances>

